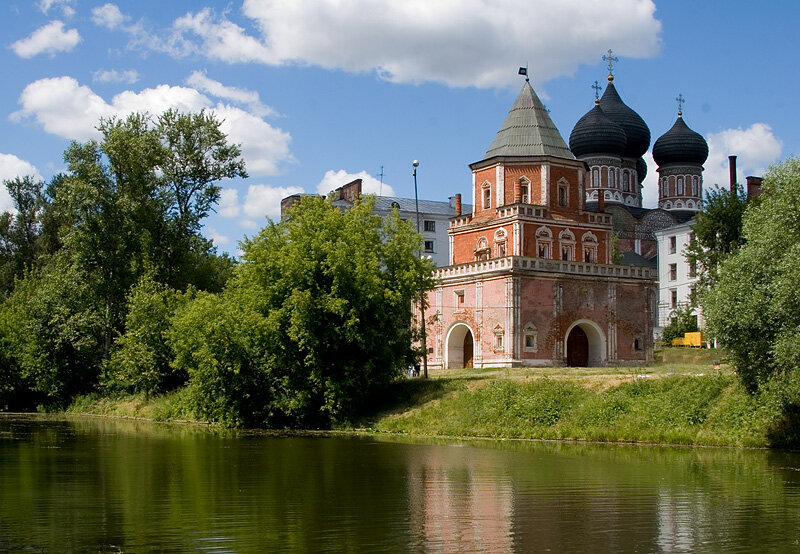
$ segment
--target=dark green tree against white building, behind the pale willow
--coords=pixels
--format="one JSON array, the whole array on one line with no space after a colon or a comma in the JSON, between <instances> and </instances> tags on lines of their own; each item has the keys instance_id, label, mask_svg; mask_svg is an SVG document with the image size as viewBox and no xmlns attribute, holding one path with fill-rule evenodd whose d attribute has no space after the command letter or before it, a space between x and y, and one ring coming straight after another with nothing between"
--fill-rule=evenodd
<instances>
[{"instance_id":1,"label":"dark green tree against white building, behind the pale willow","mask_svg":"<svg viewBox=\"0 0 800 554\"><path fill-rule=\"evenodd\" d=\"M745 243L742 218L748 199L744 190L715 187L706 192L703 210L695 216L692 238L684 253L689 265L695 267L698 284L695 294L711 289L718 278L722 261ZM699 299L692 298L696 303Z\"/></svg>"}]
</instances>

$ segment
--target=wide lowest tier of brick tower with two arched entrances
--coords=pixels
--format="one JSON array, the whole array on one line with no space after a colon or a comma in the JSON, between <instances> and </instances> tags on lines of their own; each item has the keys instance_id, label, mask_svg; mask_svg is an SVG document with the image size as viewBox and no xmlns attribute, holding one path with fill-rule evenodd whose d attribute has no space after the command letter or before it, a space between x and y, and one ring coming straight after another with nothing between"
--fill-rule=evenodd
<instances>
[{"instance_id":1,"label":"wide lowest tier of brick tower with two arched entrances","mask_svg":"<svg viewBox=\"0 0 800 554\"><path fill-rule=\"evenodd\" d=\"M509 256L437 271L428 366L608 367L653 361L648 268Z\"/></svg>"}]
</instances>

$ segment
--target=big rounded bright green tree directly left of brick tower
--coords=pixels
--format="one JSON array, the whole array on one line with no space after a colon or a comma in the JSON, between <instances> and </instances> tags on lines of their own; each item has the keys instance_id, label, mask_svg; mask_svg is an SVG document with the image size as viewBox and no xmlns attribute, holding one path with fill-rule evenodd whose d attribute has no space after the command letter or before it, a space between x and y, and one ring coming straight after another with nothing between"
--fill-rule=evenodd
<instances>
[{"instance_id":1,"label":"big rounded bright green tree directly left of brick tower","mask_svg":"<svg viewBox=\"0 0 800 554\"><path fill-rule=\"evenodd\" d=\"M413 357L412 301L433 286L397 213L306 197L243 244L225 292L193 303L170 340L195 409L318 427L347 420ZM257 399L257 402L254 400Z\"/></svg>"}]
</instances>

